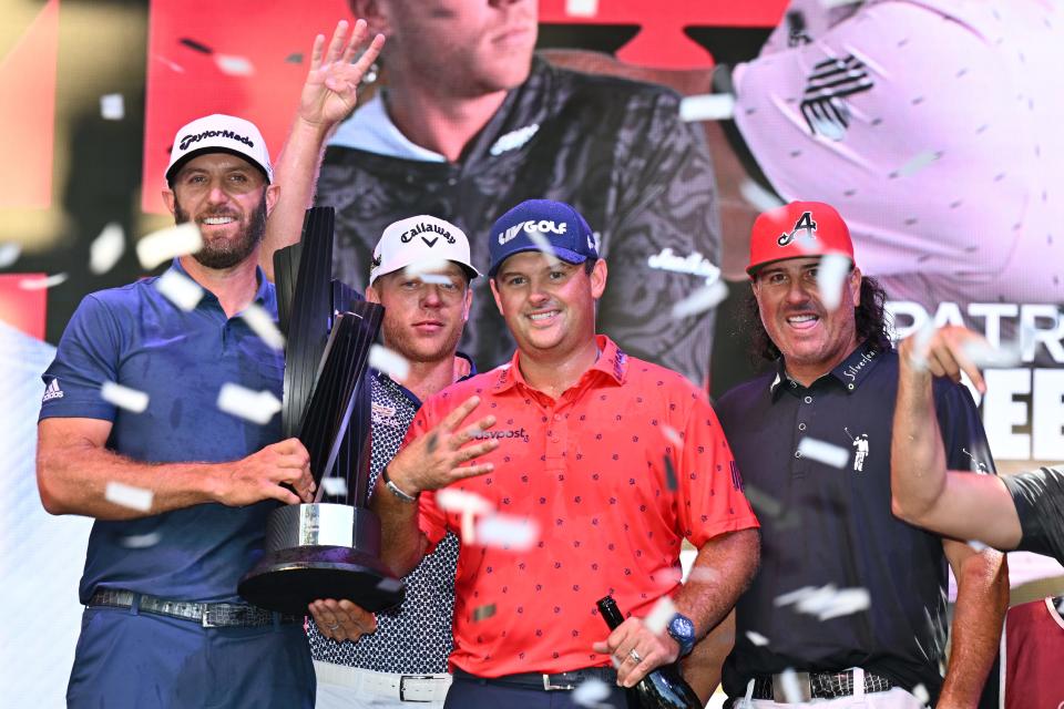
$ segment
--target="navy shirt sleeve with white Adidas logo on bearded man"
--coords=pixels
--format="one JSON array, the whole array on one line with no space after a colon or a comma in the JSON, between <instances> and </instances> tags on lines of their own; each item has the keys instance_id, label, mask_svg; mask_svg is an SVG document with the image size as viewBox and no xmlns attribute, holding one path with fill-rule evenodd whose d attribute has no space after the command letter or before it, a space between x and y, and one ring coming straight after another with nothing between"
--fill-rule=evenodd
<instances>
[{"instance_id":1,"label":"navy shirt sleeve with white Adidas logo on bearded man","mask_svg":"<svg viewBox=\"0 0 1064 709\"><path fill-rule=\"evenodd\" d=\"M121 342L114 314L95 296L86 296L63 331L55 359L41 376L45 390L39 420L113 422L116 409L100 397L100 388L119 379Z\"/></svg>"}]
</instances>

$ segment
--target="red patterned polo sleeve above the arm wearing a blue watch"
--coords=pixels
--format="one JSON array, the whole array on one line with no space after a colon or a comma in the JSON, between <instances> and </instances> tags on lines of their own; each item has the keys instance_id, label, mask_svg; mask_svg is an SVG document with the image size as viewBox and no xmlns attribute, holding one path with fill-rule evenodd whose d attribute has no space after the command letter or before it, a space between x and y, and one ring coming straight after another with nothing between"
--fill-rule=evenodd
<instances>
[{"instance_id":1,"label":"red patterned polo sleeve above the arm wearing a blue watch","mask_svg":"<svg viewBox=\"0 0 1064 709\"><path fill-rule=\"evenodd\" d=\"M684 536L696 547L713 537L760 526L743 493L743 477L709 402L698 395L678 454L678 508Z\"/></svg>"}]
</instances>

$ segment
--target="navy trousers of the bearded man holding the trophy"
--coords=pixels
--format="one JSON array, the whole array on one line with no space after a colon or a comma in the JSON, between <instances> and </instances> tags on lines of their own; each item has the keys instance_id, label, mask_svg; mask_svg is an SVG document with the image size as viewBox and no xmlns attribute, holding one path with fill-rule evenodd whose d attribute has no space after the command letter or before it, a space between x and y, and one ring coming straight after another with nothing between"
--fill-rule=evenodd
<instances>
[{"instance_id":1,"label":"navy trousers of the bearded man holding the trophy","mask_svg":"<svg viewBox=\"0 0 1064 709\"><path fill-rule=\"evenodd\" d=\"M204 628L123 608L86 608L66 688L73 709L313 709L314 665L299 624Z\"/></svg>"}]
</instances>

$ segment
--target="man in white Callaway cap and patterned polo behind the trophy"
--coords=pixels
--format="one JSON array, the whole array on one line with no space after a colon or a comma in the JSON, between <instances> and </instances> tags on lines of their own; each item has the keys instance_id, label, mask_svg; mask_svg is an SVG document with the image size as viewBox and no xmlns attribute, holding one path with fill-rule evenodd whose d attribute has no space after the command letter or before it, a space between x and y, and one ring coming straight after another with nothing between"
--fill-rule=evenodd
<instances>
[{"instance_id":1,"label":"man in white Callaway cap and patterned polo behind the trophy","mask_svg":"<svg viewBox=\"0 0 1064 709\"><path fill-rule=\"evenodd\" d=\"M466 235L442 219L396 222L377 243L366 297L385 306L385 345L410 363L410 371L401 383L386 372L371 374L370 490L399 450L421 402L475 373L457 348L472 305L470 281L477 276ZM319 709L443 706L451 685L447 657L457 566L458 537L448 534L403 579L402 605L377 614L376 623L347 600L313 605L310 653ZM348 619L354 627L340 623Z\"/></svg>"}]
</instances>

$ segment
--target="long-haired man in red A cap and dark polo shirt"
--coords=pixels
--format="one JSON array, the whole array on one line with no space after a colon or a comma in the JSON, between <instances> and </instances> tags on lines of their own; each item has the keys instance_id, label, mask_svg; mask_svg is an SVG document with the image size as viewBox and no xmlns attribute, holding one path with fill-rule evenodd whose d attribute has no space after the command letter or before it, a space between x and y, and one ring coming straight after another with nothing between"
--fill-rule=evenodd
<instances>
[{"instance_id":1,"label":"long-haired man in red A cap and dark polo shirt","mask_svg":"<svg viewBox=\"0 0 1064 709\"><path fill-rule=\"evenodd\" d=\"M939 708L974 707L1007 583L996 552L891 514L898 356L882 290L861 276L838 212L816 202L757 218L747 273L755 346L776 367L717 405L747 491L761 497L763 525L761 568L736 606L725 690L755 708L914 709L924 692ZM833 295L837 308L826 305ZM968 390L939 379L934 398L950 466L990 469ZM943 682L947 559L959 590Z\"/></svg>"}]
</instances>

